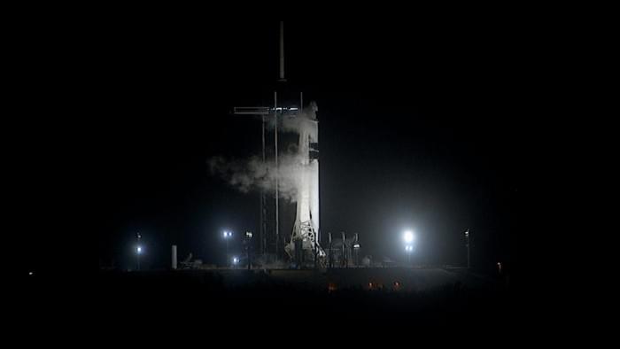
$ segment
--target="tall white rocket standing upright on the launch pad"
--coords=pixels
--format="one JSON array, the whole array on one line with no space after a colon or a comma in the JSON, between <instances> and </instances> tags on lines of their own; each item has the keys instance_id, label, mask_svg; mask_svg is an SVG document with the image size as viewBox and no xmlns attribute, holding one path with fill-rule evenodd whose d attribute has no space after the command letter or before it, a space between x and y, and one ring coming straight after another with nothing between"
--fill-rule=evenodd
<instances>
[{"instance_id":1,"label":"tall white rocket standing upright on the launch pad","mask_svg":"<svg viewBox=\"0 0 620 349\"><path fill-rule=\"evenodd\" d=\"M316 118L317 105L312 102L295 120L290 122L298 128L298 159L304 169L296 182L298 201L297 215L293 226L291 242L285 251L300 263L325 257L319 242L319 121Z\"/></svg>"}]
</instances>

